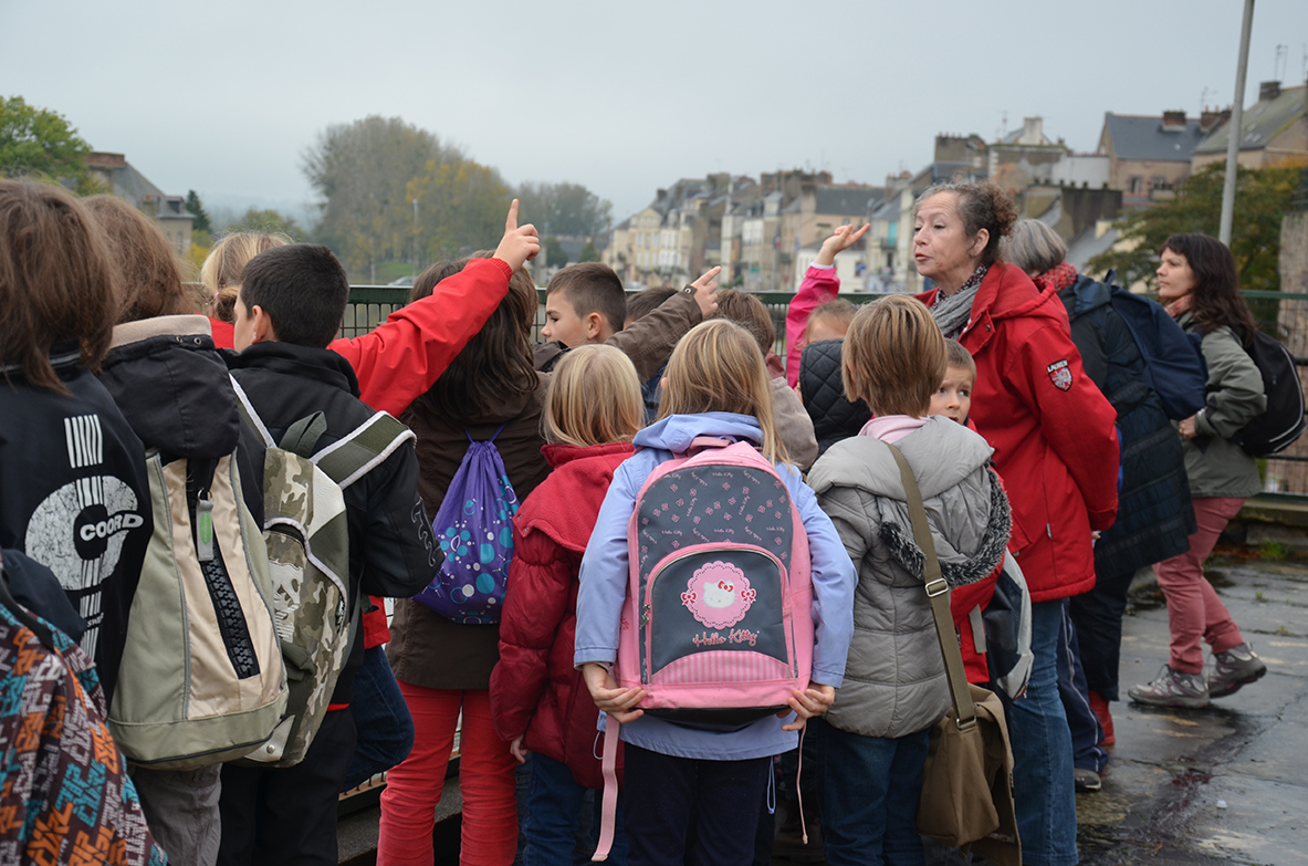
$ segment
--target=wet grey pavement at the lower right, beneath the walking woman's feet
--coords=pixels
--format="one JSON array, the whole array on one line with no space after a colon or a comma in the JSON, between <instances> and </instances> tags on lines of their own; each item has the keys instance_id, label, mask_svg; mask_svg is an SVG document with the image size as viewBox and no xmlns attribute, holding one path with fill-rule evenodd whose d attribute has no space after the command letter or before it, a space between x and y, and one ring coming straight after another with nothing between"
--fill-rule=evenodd
<instances>
[{"instance_id":1,"label":"wet grey pavement at the lower right, beneath the walking woman's feet","mask_svg":"<svg viewBox=\"0 0 1308 866\"><path fill-rule=\"evenodd\" d=\"M1218 556L1207 574L1267 675L1210 709L1113 704L1104 788L1076 798L1082 863L1308 866L1308 563ZM1124 697L1167 644L1162 595L1138 585Z\"/></svg>"}]
</instances>

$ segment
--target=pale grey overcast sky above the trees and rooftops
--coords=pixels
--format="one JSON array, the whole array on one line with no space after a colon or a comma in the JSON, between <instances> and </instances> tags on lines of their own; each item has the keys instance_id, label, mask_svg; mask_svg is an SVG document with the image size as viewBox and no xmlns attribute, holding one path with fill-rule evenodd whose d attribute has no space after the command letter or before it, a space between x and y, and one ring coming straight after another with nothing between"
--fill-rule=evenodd
<instances>
[{"instance_id":1,"label":"pale grey overcast sky above the trees and rooftops","mask_svg":"<svg viewBox=\"0 0 1308 866\"><path fill-rule=\"evenodd\" d=\"M0 0L0 94L230 205L307 204L318 131L379 114L509 182L585 183L620 220L681 177L882 183L938 132L989 141L1005 116L1093 150L1105 111L1227 106L1243 5ZM1305 0L1257 4L1245 105L1282 71L1277 44L1303 82Z\"/></svg>"}]
</instances>

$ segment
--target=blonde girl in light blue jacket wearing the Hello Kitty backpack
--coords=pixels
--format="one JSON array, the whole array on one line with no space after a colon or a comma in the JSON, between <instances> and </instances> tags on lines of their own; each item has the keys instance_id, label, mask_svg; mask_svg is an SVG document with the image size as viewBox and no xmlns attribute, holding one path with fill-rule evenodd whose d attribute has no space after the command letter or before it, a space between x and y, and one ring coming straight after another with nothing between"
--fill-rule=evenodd
<instances>
[{"instance_id":1,"label":"blonde girl in light blue jacket wearing the Hello Kitty backpack","mask_svg":"<svg viewBox=\"0 0 1308 866\"><path fill-rule=\"evenodd\" d=\"M697 829L689 861L744 866L753 858L772 756L795 748L795 731L831 706L841 684L853 632L854 570L814 492L785 462L772 424L763 353L743 328L712 320L687 334L668 360L659 412L658 421L636 434L640 450L613 472L590 535L581 564L573 662L582 667L595 706L621 722L628 862L685 862L693 810ZM617 688L608 671L617 654L628 583L627 528L637 493L661 463L685 454L698 437L752 442L776 463L808 536L811 557L812 684L794 692L790 709L780 717L731 731L646 717L640 709L645 692ZM730 487L722 494L730 497Z\"/></svg>"}]
</instances>

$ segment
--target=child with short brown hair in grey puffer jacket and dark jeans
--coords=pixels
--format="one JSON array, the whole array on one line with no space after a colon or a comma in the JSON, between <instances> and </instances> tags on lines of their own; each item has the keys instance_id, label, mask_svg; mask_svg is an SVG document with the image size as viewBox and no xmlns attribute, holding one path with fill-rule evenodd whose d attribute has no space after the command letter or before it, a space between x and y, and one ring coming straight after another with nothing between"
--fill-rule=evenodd
<instances>
[{"instance_id":1,"label":"child with short brown hair in grey puffer jacket and dark jeans","mask_svg":"<svg viewBox=\"0 0 1308 866\"><path fill-rule=\"evenodd\" d=\"M1003 559L1011 518L991 449L929 417L947 370L944 336L908 296L862 307L844 345L844 381L874 417L836 442L808 480L857 564L854 640L845 685L820 736L818 789L829 862L922 862L917 805L930 729L950 706L944 661L923 589L923 557L895 445L918 481L944 581L968 586Z\"/></svg>"}]
</instances>

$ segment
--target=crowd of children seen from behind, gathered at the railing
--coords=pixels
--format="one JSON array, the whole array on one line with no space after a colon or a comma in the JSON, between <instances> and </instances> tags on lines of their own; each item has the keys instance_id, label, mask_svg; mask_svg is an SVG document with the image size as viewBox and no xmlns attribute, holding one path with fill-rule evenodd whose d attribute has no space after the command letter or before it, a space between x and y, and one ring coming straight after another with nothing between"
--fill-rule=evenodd
<instances>
[{"instance_id":1,"label":"crowd of children seen from behind, gathered at the railing","mask_svg":"<svg viewBox=\"0 0 1308 866\"><path fill-rule=\"evenodd\" d=\"M0 544L48 566L80 606L107 702L140 676L119 658L150 535L177 531L152 519L148 453L234 455L242 506L260 518L267 443L303 436L301 421L317 419L319 451L377 409L413 434L343 485L347 612L364 624L305 759L131 765L124 801L135 788L171 862L334 863L337 793L369 772L365 743L390 735L378 862L430 863L462 717L462 862L514 861L515 765L528 756L527 859L572 862L582 799L602 786L594 750L608 714L625 744L612 859L748 863L773 757L820 718L807 725L819 759L804 772L818 782L828 862L920 858L916 791L948 691L886 445L922 488L969 676L984 682L969 612L988 600L1010 518L991 449L967 426L971 356L921 302L889 297L811 310L803 361L783 366L766 309L717 292L717 269L628 305L598 264L555 277L536 345L523 264L538 250L514 204L493 252L434 266L385 324L336 340L349 286L326 247L245 238L220 249L204 272L218 318L207 319L166 242L129 207L0 181ZM806 378L821 357L838 364ZM845 429L831 437L812 409L819 386L845 403ZM797 633L814 636L811 684L730 730L646 714L645 692L620 687L612 668L637 494L705 440L748 442L774 464L812 583L811 606L795 612ZM514 557L500 623L471 624L408 598L443 560L429 515L470 443L488 441L517 498ZM400 599L388 633L379 598ZM398 682L403 706L356 705L361 671L383 689Z\"/></svg>"}]
</instances>

